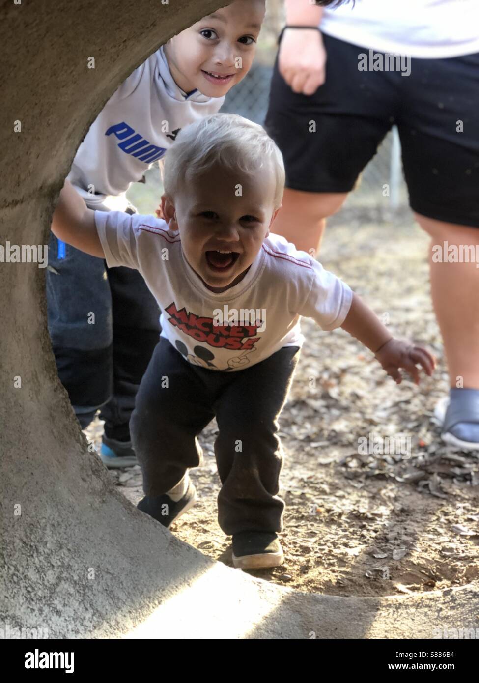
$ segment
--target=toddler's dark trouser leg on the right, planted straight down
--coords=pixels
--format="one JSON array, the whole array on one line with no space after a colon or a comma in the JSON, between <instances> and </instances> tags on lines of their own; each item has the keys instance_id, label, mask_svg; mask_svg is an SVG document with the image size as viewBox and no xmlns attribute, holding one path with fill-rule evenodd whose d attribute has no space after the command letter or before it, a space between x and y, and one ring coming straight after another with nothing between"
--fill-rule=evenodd
<instances>
[{"instance_id":1,"label":"toddler's dark trouser leg on the right, planted straight down","mask_svg":"<svg viewBox=\"0 0 479 683\"><path fill-rule=\"evenodd\" d=\"M299 357L296 346L279 349L234 378L215 402L215 441L221 491L218 522L227 534L282 531L279 498L282 447L279 413L286 402Z\"/></svg>"}]
</instances>

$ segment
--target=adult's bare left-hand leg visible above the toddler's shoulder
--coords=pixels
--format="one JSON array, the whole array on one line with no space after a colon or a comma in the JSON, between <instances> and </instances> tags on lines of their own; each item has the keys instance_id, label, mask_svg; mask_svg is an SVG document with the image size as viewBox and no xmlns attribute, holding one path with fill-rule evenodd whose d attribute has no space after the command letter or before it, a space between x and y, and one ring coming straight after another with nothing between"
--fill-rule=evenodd
<instances>
[{"instance_id":1,"label":"adult's bare left-hand leg visible above the toddler's shoulder","mask_svg":"<svg viewBox=\"0 0 479 683\"><path fill-rule=\"evenodd\" d=\"M297 249L312 253L319 251L325 230L326 218L338 211L348 194L346 192L301 192L286 188L283 208L277 214L273 230L292 242Z\"/></svg>"}]
</instances>

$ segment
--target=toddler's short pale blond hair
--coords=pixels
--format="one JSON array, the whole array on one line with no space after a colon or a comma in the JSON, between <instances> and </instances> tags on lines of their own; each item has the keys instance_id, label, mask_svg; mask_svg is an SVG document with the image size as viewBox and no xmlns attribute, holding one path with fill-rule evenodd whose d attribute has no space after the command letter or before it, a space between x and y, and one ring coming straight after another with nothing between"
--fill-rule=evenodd
<instances>
[{"instance_id":1,"label":"toddler's short pale blond hair","mask_svg":"<svg viewBox=\"0 0 479 683\"><path fill-rule=\"evenodd\" d=\"M216 163L250 175L271 163L276 182L274 209L281 205L283 155L262 126L238 114L213 114L189 124L180 130L163 158L163 186L171 198L185 178L204 173Z\"/></svg>"}]
</instances>

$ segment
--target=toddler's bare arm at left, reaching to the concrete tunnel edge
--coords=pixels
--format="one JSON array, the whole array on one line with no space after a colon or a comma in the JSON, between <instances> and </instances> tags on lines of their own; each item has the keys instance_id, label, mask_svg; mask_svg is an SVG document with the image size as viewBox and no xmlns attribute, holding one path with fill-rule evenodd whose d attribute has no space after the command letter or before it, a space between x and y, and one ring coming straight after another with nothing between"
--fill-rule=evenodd
<instances>
[{"instance_id":1,"label":"toddler's bare arm at left, reaching to the concrete tunnel edge","mask_svg":"<svg viewBox=\"0 0 479 683\"><path fill-rule=\"evenodd\" d=\"M105 258L98 232L95 212L87 208L83 199L66 180L53 214L51 230L55 237L75 249Z\"/></svg>"}]
</instances>

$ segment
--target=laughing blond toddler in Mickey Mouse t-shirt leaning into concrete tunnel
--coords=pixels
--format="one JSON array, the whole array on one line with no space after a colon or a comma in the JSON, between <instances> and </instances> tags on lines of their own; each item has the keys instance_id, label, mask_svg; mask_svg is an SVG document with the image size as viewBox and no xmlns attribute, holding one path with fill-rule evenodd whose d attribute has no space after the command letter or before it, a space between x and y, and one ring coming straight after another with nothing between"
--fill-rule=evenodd
<instances>
[{"instance_id":1,"label":"laughing blond toddler in Mickey Mouse t-shirt leaning into concrete tunnel","mask_svg":"<svg viewBox=\"0 0 479 683\"><path fill-rule=\"evenodd\" d=\"M418 382L415 363L431 374L434 360L393 339L346 284L270 234L284 165L261 126L227 114L188 126L167 153L164 184L167 223L94 212L67 185L52 229L110 267L137 268L163 311L131 421L139 509L166 527L189 510L188 469L202 458L196 437L216 417L219 525L232 534L234 566L277 566L277 419L303 343L299 317L353 334L398 383L400 367Z\"/></svg>"}]
</instances>

